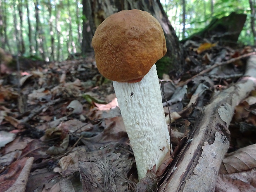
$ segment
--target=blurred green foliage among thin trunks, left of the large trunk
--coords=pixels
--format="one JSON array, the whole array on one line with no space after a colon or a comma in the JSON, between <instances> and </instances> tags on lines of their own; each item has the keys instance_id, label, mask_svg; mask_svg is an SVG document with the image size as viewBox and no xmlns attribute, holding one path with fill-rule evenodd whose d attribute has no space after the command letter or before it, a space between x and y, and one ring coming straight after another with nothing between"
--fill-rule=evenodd
<instances>
[{"instance_id":1,"label":"blurred green foliage among thin trunks, left of the large trunk","mask_svg":"<svg viewBox=\"0 0 256 192\"><path fill-rule=\"evenodd\" d=\"M81 34L81 31L78 31L78 24L81 25L82 23L81 0L19 0L19 3L17 0L0 0L0 2L2 2L2 5L0 6L1 14L6 17L6 37L8 40L7 45L4 38L1 37L0 47L4 48L5 50L9 50L9 52L11 52L13 55L17 55L17 53L21 51L17 50L17 43L21 43L17 42L17 40L19 40L19 36L22 32L21 35L24 38L24 45L26 48L26 52L23 55L24 57L30 57L33 55L33 59L35 59L35 57L43 58L42 49L44 49L45 57L49 58L52 52L51 38L53 38L53 47L55 48L53 50L55 58L52 58L54 60L57 59L58 52L60 52L59 60L66 59L69 53L73 52L71 40L76 46L76 52L81 52L81 45L78 40L78 33ZM35 5L36 2L38 2L38 5ZM28 4L28 9L30 12L29 15L27 12L26 3ZM22 6L23 28L20 28L21 20L17 10L17 6L19 4ZM36 31L36 8L38 8L40 19L38 21L38 31ZM77 8L78 15L76 14ZM15 35L14 14L17 20L17 36ZM71 18L71 22L69 21L69 18ZM36 43L43 42L43 47L38 45L38 50L33 51L32 54L29 46L28 19L31 24L31 43L34 49L36 48ZM52 23L52 31L50 29L50 23ZM71 23L72 35L70 32L69 23ZM1 25L0 31L3 31ZM58 31L60 32L60 40L58 40ZM69 49L68 46L71 47L71 49Z\"/></svg>"}]
</instances>

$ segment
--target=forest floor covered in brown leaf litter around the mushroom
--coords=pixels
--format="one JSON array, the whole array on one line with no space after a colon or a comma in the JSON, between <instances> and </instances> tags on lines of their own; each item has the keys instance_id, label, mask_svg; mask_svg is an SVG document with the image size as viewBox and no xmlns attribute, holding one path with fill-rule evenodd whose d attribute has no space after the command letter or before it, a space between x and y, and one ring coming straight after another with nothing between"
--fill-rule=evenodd
<instances>
[{"instance_id":1,"label":"forest floor covered in brown leaf litter around the mushroom","mask_svg":"<svg viewBox=\"0 0 256 192\"><path fill-rule=\"evenodd\" d=\"M173 149L211 98L243 76L244 55L254 52L193 41L184 46L185 73L161 79L171 109ZM97 71L94 55L28 62L21 62L26 65L21 75L8 69L0 76L0 192L144 190L147 182L136 185L135 159L114 88ZM163 104L168 117L164 98ZM215 191L221 191L221 180L230 189L255 192L256 90L237 104L229 130L230 147ZM249 178L242 178L244 173Z\"/></svg>"}]
</instances>

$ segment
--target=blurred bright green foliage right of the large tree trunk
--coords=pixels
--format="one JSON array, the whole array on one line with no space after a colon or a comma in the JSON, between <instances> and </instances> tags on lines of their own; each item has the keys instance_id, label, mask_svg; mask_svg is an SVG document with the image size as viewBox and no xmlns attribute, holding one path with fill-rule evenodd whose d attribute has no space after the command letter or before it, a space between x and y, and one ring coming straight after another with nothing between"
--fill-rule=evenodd
<instances>
[{"instance_id":1,"label":"blurred bright green foliage right of the large tree trunk","mask_svg":"<svg viewBox=\"0 0 256 192\"><path fill-rule=\"evenodd\" d=\"M180 0L162 0L162 5L169 16L171 24L176 31L177 36L182 39L182 14L183 5ZM165 2L167 4L165 4ZM215 0L213 1L213 12L211 12L211 0L186 0L186 31L185 36L191 36L194 33L205 28L212 19L228 16L231 12L244 13L250 15L249 0ZM240 34L239 41L244 44L253 44L251 35L250 17L243 31Z\"/></svg>"}]
</instances>

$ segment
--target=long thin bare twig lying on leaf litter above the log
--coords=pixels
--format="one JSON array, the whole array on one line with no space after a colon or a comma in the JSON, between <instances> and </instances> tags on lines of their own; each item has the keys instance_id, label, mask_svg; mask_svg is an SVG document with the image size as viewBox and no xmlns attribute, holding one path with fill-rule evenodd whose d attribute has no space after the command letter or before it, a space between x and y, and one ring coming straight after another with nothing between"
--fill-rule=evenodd
<instances>
[{"instance_id":1,"label":"long thin bare twig lying on leaf litter above the log","mask_svg":"<svg viewBox=\"0 0 256 192\"><path fill-rule=\"evenodd\" d=\"M207 72L213 70L214 68L216 68L216 67L218 67L218 66L223 66L223 65L226 65L226 64L230 64L230 63L235 62L235 61L237 61L237 60L239 60L239 59L242 59L242 58L245 58L245 57L249 57L249 56L255 55L255 54L256 54L256 52L254 51L254 52L250 52L250 53L241 55L241 56L239 56L239 57L232 58L232 59L230 59L230 60L228 60L228 61L225 61L225 62L216 63L216 64L210 66L208 69L204 69L204 70L201 71L200 73L194 75L192 78L187 79L186 81L180 82L180 83L178 84L178 87L181 87L181 86L183 86L183 85L187 85L187 83L189 83L190 81L192 81L194 78L196 78L196 77L198 77L198 76L200 76L200 75L202 75L202 74L204 74L204 73L207 73Z\"/></svg>"}]
</instances>

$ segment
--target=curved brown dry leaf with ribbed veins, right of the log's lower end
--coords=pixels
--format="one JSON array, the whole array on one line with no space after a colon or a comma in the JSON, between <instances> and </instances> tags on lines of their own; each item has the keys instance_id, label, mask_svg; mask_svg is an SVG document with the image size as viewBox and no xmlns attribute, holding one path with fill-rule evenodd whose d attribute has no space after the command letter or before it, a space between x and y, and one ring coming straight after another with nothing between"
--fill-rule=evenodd
<instances>
[{"instance_id":1,"label":"curved brown dry leaf with ribbed veins, right of the log's lower end","mask_svg":"<svg viewBox=\"0 0 256 192\"><path fill-rule=\"evenodd\" d=\"M256 167L256 144L238 149L223 159L219 174L247 171Z\"/></svg>"}]
</instances>

